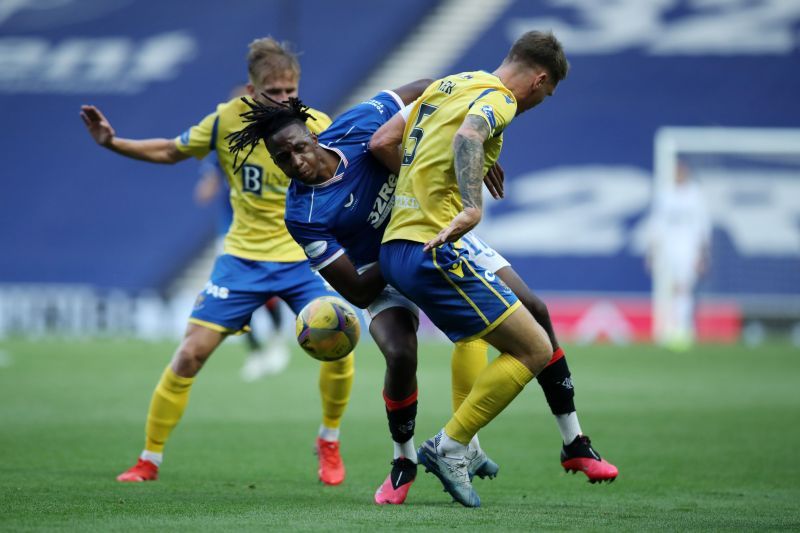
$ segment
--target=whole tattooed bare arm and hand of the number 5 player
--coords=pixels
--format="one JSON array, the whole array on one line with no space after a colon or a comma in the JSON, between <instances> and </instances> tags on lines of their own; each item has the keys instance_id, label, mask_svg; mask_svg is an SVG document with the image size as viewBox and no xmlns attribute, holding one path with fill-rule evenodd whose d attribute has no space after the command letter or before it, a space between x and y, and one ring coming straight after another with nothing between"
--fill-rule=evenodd
<instances>
[{"instance_id":1,"label":"whole tattooed bare arm and hand of the number 5 player","mask_svg":"<svg viewBox=\"0 0 800 533\"><path fill-rule=\"evenodd\" d=\"M478 225L483 214L483 143L489 138L489 124L477 115L467 115L453 138L453 165L462 210L439 234L425 243L428 251L446 242L460 239Z\"/></svg>"}]
</instances>

